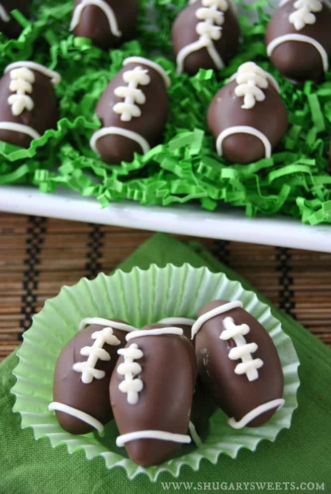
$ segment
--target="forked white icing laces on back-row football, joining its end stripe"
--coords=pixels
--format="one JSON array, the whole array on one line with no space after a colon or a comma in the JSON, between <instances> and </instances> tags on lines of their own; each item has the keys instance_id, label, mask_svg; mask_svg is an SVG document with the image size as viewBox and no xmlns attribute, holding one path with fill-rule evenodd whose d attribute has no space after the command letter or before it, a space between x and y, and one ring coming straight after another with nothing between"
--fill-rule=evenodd
<instances>
[{"instance_id":1,"label":"forked white icing laces on back-row football, joining its end stripe","mask_svg":"<svg viewBox=\"0 0 331 494\"><path fill-rule=\"evenodd\" d=\"M202 7L196 10L197 19L201 20L196 25L199 34L198 41L184 46L177 55L177 72L183 72L185 58L195 51L207 48L215 66L221 69L224 64L217 52L214 41L221 38L222 24L224 23L224 12L228 9L227 0L202 0Z\"/></svg>"}]
</instances>

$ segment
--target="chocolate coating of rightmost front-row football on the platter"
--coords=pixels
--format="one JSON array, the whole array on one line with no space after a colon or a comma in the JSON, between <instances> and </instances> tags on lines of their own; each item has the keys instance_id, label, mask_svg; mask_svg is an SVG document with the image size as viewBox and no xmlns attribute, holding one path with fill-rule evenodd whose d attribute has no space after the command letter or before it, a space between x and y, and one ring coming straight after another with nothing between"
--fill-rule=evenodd
<instances>
[{"instance_id":1,"label":"chocolate coating of rightmost front-row football on the platter","mask_svg":"<svg viewBox=\"0 0 331 494\"><path fill-rule=\"evenodd\" d=\"M269 82L264 101L256 101L253 108L243 109L243 98L237 98L235 80L223 86L214 96L208 110L208 125L215 136L228 127L248 125L263 132L274 148L284 136L287 112L284 103ZM223 156L233 163L251 163L265 156L262 141L251 134L237 133L226 137L222 144Z\"/></svg>"}]
</instances>

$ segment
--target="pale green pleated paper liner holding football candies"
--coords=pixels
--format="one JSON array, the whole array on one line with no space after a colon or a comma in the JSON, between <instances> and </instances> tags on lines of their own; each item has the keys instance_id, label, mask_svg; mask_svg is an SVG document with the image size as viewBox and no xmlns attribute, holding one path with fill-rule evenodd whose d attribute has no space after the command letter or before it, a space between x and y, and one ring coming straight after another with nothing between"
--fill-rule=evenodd
<instances>
[{"instance_id":1,"label":"pale green pleated paper liner holding football candies","mask_svg":"<svg viewBox=\"0 0 331 494\"><path fill-rule=\"evenodd\" d=\"M218 298L240 299L277 347L285 379L285 405L269 422L261 427L235 430L227 425L225 414L217 409L209 420L209 431L200 447L182 447L176 458L148 468L136 465L124 448L116 447L118 431L114 420L106 426L104 438L94 432L72 435L60 427L54 412L48 410L53 400L54 369L59 353L78 331L81 319L118 318L142 327L174 315L195 318L202 305ZM151 265L145 271L135 267L130 273L117 270L111 276L100 274L93 281L83 278L72 287L63 287L33 318L18 357L19 364L13 371L17 382L11 391L16 396L13 411L20 413L22 428L32 427L35 439L48 437L52 447L66 444L69 454L83 449L88 460L102 456L108 469L122 467L129 479L145 474L155 481L164 471L177 477L183 465L198 470L202 458L215 464L221 453L235 458L240 448L253 451L262 439L273 441L281 429L289 428L297 407L298 357L291 339L269 306L223 273L212 273L205 267L193 268L189 264L182 267L168 264L164 268Z\"/></svg>"}]
</instances>

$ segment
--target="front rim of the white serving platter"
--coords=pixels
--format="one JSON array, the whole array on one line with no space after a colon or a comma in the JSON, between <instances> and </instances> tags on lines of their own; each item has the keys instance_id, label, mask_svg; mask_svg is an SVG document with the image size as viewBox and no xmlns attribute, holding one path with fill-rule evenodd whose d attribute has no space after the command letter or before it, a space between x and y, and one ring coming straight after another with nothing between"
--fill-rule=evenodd
<instances>
[{"instance_id":1,"label":"front rim of the white serving platter","mask_svg":"<svg viewBox=\"0 0 331 494\"><path fill-rule=\"evenodd\" d=\"M242 209L226 206L210 212L193 204L161 207L125 201L102 208L95 198L72 191L43 194L33 187L1 186L0 211L331 252L329 224L303 225L286 216L248 218Z\"/></svg>"}]
</instances>

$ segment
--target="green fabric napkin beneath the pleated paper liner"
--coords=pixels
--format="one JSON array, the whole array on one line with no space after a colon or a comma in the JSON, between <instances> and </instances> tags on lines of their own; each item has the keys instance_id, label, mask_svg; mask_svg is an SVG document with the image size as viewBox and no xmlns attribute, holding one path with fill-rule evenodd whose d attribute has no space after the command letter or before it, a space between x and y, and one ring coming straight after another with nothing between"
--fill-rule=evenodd
<instances>
[{"instance_id":1,"label":"green fabric napkin beneath the pleated paper liner","mask_svg":"<svg viewBox=\"0 0 331 494\"><path fill-rule=\"evenodd\" d=\"M195 267L206 265L252 290L197 242L185 244L164 234L147 240L119 268L130 271L135 265L146 269L151 263L164 266L168 262L178 266L184 262ZM268 303L265 297L258 296ZM48 439L35 441L30 429L21 430L19 414L11 411L12 369L17 364L17 357L11 354L0 365L0 494L153 494L189 490L316 493L320 487L324 487L322 492L330 493L331 352L291 317L275 307L272 312L291 336L301 362L299 407L291 429L280 432L274 443L261 442L255 452L240 450L235 460L221 455L217 465L204 460L198 472L184 467L178 479L161 474L155 484L145 476L128 481L122 469L106 470L102 458L87 461L82 452L69 456L65 446L52 449ZM263 484L266 482L273 484Z\"/></svg>"}]
</instances>

